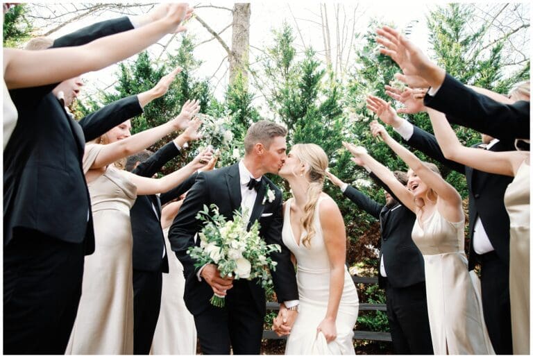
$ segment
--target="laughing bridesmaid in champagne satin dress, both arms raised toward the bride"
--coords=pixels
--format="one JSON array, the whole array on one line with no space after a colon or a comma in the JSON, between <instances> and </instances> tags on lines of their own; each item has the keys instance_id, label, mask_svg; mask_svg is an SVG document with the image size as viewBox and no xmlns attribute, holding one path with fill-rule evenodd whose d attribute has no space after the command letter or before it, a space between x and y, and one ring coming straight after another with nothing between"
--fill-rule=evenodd
<instances>
[{"instance_id":1,"label":"laughing bridesmaid in champagne satin dress, both arms raised toward the bride","mask_svg":"<svg viewBox=\"0 0 533 358\"><path fill-rule=\"evenodd\" d=\"M468 272L464 253L461 196L444 180L436 165L421 162L398 144L377 122L373 135L409 165L407 188L362 147L345 144L416 214L413 241L425 262L428 315L436 355L494 354L485 327L477 275Z\"/></svg>"}]
</instances>

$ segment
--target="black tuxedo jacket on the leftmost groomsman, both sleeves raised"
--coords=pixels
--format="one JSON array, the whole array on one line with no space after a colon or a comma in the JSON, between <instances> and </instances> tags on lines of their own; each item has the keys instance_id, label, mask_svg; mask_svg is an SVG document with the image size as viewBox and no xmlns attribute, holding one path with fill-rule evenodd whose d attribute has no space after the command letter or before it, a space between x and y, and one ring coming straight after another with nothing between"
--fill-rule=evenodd
<instances>
[{"instance_id":1,"label":"black tuxedo jacket on the leftmost groomsman, both sleeves raised","mask_svg":"<svg viewBox=\"0 0 533 358\"><path fill-rule=\"evenodd\" d=\"M127 17L101 22L53 44L74 46L133 28ZM3 152L4 246L17 227L38 230L94 251L90 197L82 169L85 142L142 113L137 96L112 103L79 123L50 92L57 84L15 89L17 126ZM88 219L88 221L87 221Z\"/></svg>"}]
</instances>

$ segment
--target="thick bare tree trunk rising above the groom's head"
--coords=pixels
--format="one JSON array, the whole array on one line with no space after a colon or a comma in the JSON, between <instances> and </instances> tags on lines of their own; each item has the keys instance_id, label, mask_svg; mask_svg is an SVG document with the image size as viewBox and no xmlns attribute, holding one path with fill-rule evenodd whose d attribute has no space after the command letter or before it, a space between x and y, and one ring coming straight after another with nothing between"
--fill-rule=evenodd
<instances>
[{"instance_id":1,"label":"thick bare tree trunk rising above the groom's head","mask_svg":"<svg viewBox=\"0 0 533 358\"><path fill-rule=\"evenodd\" d=\"M248 87L248 49L250 47L250 3L233 6L233 33L231 36L230 83L241 73L244 87Z\"/></svg>"}]
</instances>

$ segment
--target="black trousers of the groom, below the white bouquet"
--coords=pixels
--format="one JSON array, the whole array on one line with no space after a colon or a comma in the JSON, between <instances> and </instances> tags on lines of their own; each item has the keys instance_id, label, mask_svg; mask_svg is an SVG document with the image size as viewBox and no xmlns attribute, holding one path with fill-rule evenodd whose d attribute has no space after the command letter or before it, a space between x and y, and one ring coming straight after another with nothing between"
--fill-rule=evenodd
<instances>
[{"instance_id":1,"label":"black trousers of the groom, below the white bouquet","mask_svg":"<svg viewBox=\"0 0 533 358\"><path fill-rule=\"evenodd\" d=\"M257 311L248 283L235 280L226 296L226 306L209 307L194 316L204 355L259 355L264 316Z\"/></svg>"}]
</instances>

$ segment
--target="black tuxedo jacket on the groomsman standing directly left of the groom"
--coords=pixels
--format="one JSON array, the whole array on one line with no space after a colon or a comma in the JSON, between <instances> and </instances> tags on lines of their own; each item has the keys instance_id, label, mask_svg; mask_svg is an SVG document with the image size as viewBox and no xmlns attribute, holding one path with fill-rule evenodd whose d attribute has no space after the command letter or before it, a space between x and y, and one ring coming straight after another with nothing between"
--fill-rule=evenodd
<instances>
[{"instance_id":1,"label":"black tuxedo jacket on the groomsman standing directly left of the groom","mask_svg":"<svg viewBox=\"0 0 533 358\"><path fill-rule=\"evenodd\" d=\"M169 160L180 154L174 142L165 144L148 160L142 162L133 170L138 176L151 178L160 171ZM178 187L157 195L139 195L130 210L131 230L133 232L133 269L138 271L169 272L167 253L164 253L164 235L161 229L161 205L168 203L192 187L196 174L190 176ZM153 205L153 206L152 206ZM157 212L157 216L153 211Z\"/></svg>"}]
</instances>

